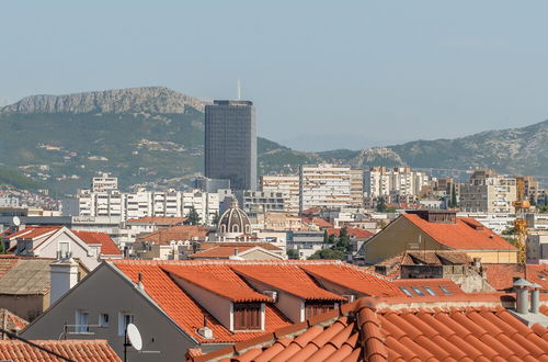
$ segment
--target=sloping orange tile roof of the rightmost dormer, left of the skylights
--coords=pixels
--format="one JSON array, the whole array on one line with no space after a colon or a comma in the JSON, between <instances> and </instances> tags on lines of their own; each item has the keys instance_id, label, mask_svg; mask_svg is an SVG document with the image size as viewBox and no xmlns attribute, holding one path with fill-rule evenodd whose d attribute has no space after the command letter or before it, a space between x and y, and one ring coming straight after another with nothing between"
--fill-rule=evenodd
<instances>
[{"instance_id":1,"label":"sloping orange tile roof of the rightmost dormer, left of the skylights","mask_svg":"<svg viewBox=\"0 0 548 362\"><path fill-rule=\"evenodd\" d=\"M356 291L363 295L376 296L393 296L403 295L391 282L387 281L383 275L368 272L363 268L357 268L350 264L328 264L328 265L302 265L300 267L307 273L319 280L330 281Z\"/></svg>"}]
</instances>

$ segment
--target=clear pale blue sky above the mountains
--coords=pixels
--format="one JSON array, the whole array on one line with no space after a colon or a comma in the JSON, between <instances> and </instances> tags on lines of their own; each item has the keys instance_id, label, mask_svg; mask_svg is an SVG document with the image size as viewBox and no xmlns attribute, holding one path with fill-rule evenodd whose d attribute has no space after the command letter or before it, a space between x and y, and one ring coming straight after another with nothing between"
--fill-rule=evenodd
<instances>
[{"instance_id":1,"label":"clear pale blue sky above the mountains","mask_svg":"<svg viewBox=\"0 0 548 362\"><path fill-rule=\"evenodd\" d=\"M165 86L299 150L548 118L548 1L0 1L0 104Z\"/></svg>"}]
</instances>

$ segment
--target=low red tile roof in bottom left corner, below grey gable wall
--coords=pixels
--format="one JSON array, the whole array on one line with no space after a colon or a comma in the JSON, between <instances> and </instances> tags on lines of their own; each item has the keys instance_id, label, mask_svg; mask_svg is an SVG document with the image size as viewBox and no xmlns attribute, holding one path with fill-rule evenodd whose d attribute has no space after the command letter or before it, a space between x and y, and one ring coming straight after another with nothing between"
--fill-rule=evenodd
<instances>
[{"instance_id":1,"label":"low red tile roof in bottom left corner, below grey gable wall","mask_svg":"<svg viewBox=\"0 0 548 362\"><path fill-rule=\"evenodd\" d=\"M105 340L33 340L32 342L78 362L121 362ZM13 362L61 361L19 340L0 341L0 360Z\"/></svg>"}]
</instances>

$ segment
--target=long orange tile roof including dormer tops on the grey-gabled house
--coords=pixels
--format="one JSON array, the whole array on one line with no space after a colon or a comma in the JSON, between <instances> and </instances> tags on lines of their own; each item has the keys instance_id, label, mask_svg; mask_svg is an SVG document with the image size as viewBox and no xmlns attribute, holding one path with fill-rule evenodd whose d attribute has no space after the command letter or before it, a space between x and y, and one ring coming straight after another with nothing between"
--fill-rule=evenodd
<instances>
[{"instance_id":1,"label":"long orange tile roof including dormer tops on the grey-gabled house","mask_svg":"<svg viewBox=\"0 0 548 362\"><path fill-rule=\"evenodd\" d=\"M273 290L286 291L304 299L344 302L345 298L341 295L322 289L316 278L307 271L307 267L316 265L318 274L321 273L321 268L331 270L332 267L336 267L341 272L346 270L354 276L346 278L344 283L351 285L351 281L355 279L354 289L365 292L367 281L370 294L385 293L385 289L389 287L386 280L375 278L374 273L361 271L358 267L341 261L112 260L110 265L127 275L134 283L137 283L140 273L144 293L152 298L186 333L203 343L238 342L289 325L289 319L276 308L274 301L252 287L256 281L264 285L272 285ZM365 273L367 276L362 281L358 273ZM264 302L265 330L246 332L228 330L208 313L205 306L192 297L185 290L184 283L198 286L231 302ZM230 287L227 287L228 284ZM398 295L403 295L395 287L392 291ZM207 326L213 330L214 339L204 339L197 333L197 328L203 325L206 315L208 316Z\"/></svg>"}]
</instances>

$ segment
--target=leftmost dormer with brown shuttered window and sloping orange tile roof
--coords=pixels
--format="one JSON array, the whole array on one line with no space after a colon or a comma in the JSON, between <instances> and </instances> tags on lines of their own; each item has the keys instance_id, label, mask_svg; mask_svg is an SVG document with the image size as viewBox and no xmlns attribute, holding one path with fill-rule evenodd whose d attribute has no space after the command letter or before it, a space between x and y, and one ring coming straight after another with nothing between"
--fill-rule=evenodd
<instances>
[{"instance_id":1,"label":"leftmost dormer with brown shuttered window and sloping orange tile roof","mask_svg":"<svg viewBox=\"0 0 548 362\"><path fill-rule=\"evenodd\" d=\"M265 304L272 303L271 297L254 292L243 282L231 282L227 287L227 281L204 278L184 268L162 269L228 330L265 330Z\"/></svg>"}]
</instances>

